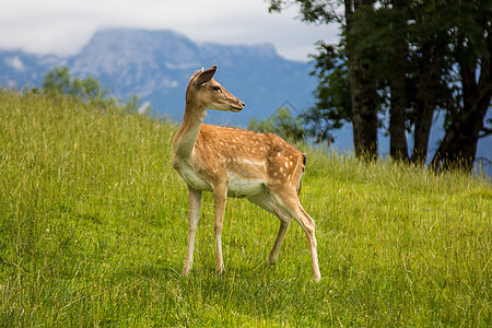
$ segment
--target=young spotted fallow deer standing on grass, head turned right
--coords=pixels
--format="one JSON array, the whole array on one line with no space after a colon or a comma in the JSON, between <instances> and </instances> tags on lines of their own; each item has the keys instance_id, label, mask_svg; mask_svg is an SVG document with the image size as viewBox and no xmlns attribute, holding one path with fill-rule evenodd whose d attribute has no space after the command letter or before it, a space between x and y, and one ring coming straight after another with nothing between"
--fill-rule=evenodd
<instances>
[{"instance_id":1,"label":"young spotted fallow deer standing on grass, head turned right","mask_svg":"<svg viewBox=\"0 0 492 328\"><path fill-rule=\"evenodd\" d=\"M245 106L212 79L215 71L216 66L192 74L186 90L185 116L173 141L173 166L188 185L190 204L183 274L187 276L191 270L201 191L206 190L213 192L215 202L218 272L224 271L221 234L226 198L246 197L280 219L280 230L268 262L276 262L286 229L294 219L306 233L313 276L319 281L315 223L297 198L306 157L274 134L202 124L207 108L236 113Z\"/></svg>"}]
</instances>

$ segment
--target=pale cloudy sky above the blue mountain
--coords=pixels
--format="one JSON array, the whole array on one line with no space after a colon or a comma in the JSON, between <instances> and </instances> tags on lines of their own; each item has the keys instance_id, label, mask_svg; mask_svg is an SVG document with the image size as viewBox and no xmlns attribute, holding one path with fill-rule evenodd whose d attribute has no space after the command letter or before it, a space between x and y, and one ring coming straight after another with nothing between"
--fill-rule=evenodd
<instances>
[{"instance_id":1,"label":"pale cloudy sky above the blue mountain","mask_svg":"<svg viewBox=\"0 0 492 328\"><path fill-rule=\"evenodd\" d=\"M265 0L1 0L0 48L77 54L98 28L173 30L195 42L271 43L279 54L308 60L315 43L335 43L337 25L308 25L298 8L269 13Z\"/></svg>"}]
</instances>

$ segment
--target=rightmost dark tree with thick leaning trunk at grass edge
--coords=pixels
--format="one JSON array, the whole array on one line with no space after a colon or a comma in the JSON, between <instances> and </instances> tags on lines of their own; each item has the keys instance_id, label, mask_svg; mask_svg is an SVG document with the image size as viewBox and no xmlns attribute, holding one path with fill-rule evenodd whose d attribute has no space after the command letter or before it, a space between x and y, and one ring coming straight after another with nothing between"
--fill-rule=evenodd
<instances>
[{"instance_id":1,"label":"rightmost dark tree with thick leaning trunk at grass edge","mask_svg":"<svg viewBox=\"0 0 492 328\"><path fill-rule=\"evenodd\" d=\"M449 45L459 83L457 101L450 102L454 106L446 112L446 134L432 165L444 168L461 166L470 171L478 140L492 133L492 129L484 125L492 96L492 5L487 0L449 4L454 4L449 8L452 13L459 12L449 15L453 20Z\"/></svg>"}]
</instances>

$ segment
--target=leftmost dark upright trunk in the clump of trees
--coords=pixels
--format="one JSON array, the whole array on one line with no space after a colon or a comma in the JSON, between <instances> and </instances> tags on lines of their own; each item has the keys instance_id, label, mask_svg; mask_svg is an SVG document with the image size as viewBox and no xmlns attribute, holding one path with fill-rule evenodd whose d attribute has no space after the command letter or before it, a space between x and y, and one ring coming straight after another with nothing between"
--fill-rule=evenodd
<instances>
[{"instance_id":1,"label":"leftmost dark upright trunk in the clump of trees","mask_svg":"<svg viewBox=\"0 0 492 328\"><path fill-rule=\"evenodd\" d=\"M353 22L353 13L361 5L373 3L372 0L344 1L345 23L348 33L356 33L356 23ZM350 39L350 38L348 38ZM347 46L350 71L350 91L352 98L352 128L353 144L358 157L377 157L377 107L376 90L371 83L367 66L350 51Z\"/></svg>"}]
</instances>

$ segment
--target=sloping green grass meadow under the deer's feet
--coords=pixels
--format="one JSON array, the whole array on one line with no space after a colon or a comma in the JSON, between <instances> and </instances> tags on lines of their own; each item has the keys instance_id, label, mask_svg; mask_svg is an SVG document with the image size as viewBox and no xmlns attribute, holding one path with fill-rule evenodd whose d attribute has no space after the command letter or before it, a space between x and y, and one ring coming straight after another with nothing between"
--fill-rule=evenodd
<instances>
[{"instance_id":1,"label":"sloping green grass meadow under the deer's feet","mask_svg":"<svg viewBox=\"0 0 492 328\"><path fill-rule=\"evenodd\" d=\"M233 114L231 114L233 115ZM68 99L0 92L0 326L326 327L491 324L492 187L461 173L304 148L307 241L230 200L214 272L204 194L194 270L180 277L188 197L177 127Z\"/></svg>"}]
</instances>

